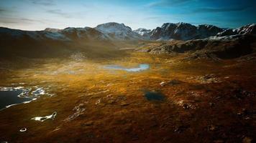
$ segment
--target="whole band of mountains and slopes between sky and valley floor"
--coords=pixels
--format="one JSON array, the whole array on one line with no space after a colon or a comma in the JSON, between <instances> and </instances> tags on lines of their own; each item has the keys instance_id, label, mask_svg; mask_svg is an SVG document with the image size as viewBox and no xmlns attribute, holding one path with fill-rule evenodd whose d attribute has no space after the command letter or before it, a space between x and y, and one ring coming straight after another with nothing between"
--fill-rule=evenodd
<instances>
[{"instance_id":1,"label":"whole band of mountains and slopes between sky and valley floor","mask_svg":"<svg viewBox=\"0 0 256 143\"><path fill-rule=\"evenodd\" d=\"M126 44L134 45L140 41L147 43L171 39L174 42L154 46L149 49L150 53L182 53L207 49L208 53L217 54L222 50L228 51L227 54L230 57L237 57L254 51L252 45L255 45L255 36L253 36L256 34L255 29L256 24L237 29L220 29L206 24L193 26L186 23L166 23L152 31L147 29L132 31L129 26L114 22L100 24L95 28L47 28L44 31L22 31L0 27L0 54L1 56L48 56L50 54L55 56L73 50L98 50L99 52L108 48L126 48L124 47ZM181 41L176 42L176 40ZM218 54L218 56L226 58L224 54L222 56Z\"/></svg>"}]
</instances>

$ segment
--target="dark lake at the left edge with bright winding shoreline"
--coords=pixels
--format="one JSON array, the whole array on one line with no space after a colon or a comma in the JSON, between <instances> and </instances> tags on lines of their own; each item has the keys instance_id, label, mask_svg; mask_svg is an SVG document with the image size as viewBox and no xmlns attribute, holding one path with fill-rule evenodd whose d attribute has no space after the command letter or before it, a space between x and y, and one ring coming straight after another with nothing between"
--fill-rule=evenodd
<instances>
[{"instance_id":1,"label":"dark lake at the left edge with bright winding shoreline","mask_svg":"<svg viewBox=\"0 0 256 143\"><path fill-rule=\"evenodd\" d=\"M0 110L11 107L15 104L28 103L35 98L21 97L20 95L27 92L24 89L9 89L0 91Z\"/></svg>"}]
</instances>

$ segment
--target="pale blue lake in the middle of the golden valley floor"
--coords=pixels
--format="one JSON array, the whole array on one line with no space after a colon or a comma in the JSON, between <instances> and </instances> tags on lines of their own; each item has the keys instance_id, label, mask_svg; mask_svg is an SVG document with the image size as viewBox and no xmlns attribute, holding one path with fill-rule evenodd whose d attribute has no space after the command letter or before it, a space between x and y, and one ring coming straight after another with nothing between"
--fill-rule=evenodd
<instances>
[{"instance_id":1,"label":"pale blue lake in the middle of the golden valley floor","mask_svg":"<svg viewBox=\"0 0 256 143\"><path fill-rule=\"evenodd\" d=\"M118 66L118 65L109 65L105 66L106 69L117 69L117 70L124 70L124 71L143 71L150 68L149 64L140 64L138 67L134 68L126 68L124 66Z\"/></svg>"}]
</instances>

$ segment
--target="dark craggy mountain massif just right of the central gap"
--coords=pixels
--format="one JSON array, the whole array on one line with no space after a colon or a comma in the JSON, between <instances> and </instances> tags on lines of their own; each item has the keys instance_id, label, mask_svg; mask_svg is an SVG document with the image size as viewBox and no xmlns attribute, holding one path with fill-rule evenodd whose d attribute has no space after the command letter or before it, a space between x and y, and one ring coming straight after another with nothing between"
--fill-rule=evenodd
<instances>
[{"instance_id":1,"label":"dark craggy mountain massif just right of the central gap","mask_svg":"<svg viewBox=\"0 0 256 143\"><path fill-rule=\"evenodd\" d=\"M199 25L180 22L178 24L165 23L150 32L150 38L153 40L191 40L204 39L209 36L215 36L223 29L213 25Z\"/></svg>"}]
</instances>

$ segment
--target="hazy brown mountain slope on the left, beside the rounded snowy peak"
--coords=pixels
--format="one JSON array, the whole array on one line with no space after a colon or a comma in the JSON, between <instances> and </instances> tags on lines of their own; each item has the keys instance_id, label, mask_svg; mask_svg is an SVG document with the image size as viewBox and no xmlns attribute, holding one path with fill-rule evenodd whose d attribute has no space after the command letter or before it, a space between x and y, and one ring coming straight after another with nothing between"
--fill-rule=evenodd
<instances>
[{"instance_id":1,"label":"hazy brown mountain slope on the left, beside the rounded snowy peak","mask_svg":"<svg viewBox=\"0 0 256 143\"><path fill-rule=\"evenodd\" d=\"M113 54L115 48L105 34L89 27L69 27L60 31L22 31L0 27L1 58L66 57L74 51L98 57Z\"/></svg>"}]
</instances>

